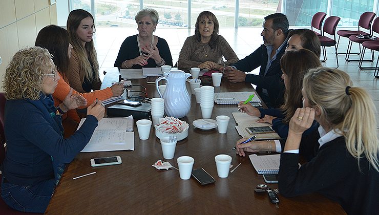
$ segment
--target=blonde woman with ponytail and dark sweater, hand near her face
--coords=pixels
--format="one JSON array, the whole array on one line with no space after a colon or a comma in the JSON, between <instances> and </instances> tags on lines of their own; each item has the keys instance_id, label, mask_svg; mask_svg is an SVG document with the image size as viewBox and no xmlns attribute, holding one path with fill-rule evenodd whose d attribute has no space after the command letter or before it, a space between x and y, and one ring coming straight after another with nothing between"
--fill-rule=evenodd
<instances>
[{"instance_id":1,"label":"blonde woman with ponytail and dark sweater, hand near her face","mask_svg":"<svg viewBox=\"0 0 379 215\"><path fill-rule=\"evenodd\" d=\"M289 122L281 154L279 191L285 197L319 192L348 214L376 214L379 198L379 141L375 106L368 93L352 87L337 69L310 70L303 80L303 108ZM302 139L313 120L318 131ZM237 143L240 155L256 152ZM300 168L299 153L307 163Z\"/></svg>"}]
</instances>

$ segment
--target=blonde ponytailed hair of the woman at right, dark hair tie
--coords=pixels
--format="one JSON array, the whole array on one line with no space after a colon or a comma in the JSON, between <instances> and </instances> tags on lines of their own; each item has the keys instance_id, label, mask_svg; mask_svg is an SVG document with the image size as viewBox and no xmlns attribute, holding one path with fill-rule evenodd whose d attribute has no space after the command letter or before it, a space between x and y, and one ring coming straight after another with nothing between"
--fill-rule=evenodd
<instances>
[{"instance_id":1,"label":"blonde ponytailed hair of the woman at right, dark hair tie","mask_svg":"<svg viewBox=\"0 0 379 215\"><path fill-rule=\"evenodd\" d=\"M330 68L311 69L303 81L309 102L319 105L320 117L341 131L347 150L358 164L366 157L379 171L375 105L364 89L351 86L347 73Z\"/></svg>"}]
</instances>

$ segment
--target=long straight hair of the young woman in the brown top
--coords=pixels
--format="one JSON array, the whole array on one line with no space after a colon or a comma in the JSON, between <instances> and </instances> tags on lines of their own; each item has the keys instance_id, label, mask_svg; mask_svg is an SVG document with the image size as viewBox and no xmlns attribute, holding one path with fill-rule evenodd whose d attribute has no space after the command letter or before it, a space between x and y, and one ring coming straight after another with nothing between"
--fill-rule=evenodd
<instances>
[{"instance_id":1,"label":"long straight hair of the young woman in the brown top","mask_svg":"<svg viewBox=\"0 0 379 215\"><path fill-rule=\"evenodd\" d=\"M76 56L79 58L79 71L84 73L83 80L81 80L81 82L84 81L84 78L87 78L91 82L94 79L99 79L99 62L97 61L97 54L93 44L93 39L90 42L86 42L85 47L83 47L81 39L76 33L81 20L87 17L91 17L92 20L94 20L93 16L88 11L77 9L71 11L67 19L67 31L69 32L70 42ZM86 52L88 53L89 60L92 62L92 66L91 62L86 58Z\"/></svg>"}]
</instances>

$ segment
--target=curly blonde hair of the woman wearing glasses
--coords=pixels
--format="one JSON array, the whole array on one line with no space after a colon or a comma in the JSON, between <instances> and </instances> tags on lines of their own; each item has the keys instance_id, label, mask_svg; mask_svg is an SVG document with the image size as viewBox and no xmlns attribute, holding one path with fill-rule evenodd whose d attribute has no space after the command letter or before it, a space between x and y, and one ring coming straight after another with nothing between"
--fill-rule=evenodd
<instances>
[{"instance_id":1,"label":"curly blonde hair of the woman wearing glasses","mask_svg":"<svg viewBox=\"0 0 379 215\"><path fill-rule=\"evenodd\" d=\"M54 69L49 68L51 57L47 49L40 47L22 49L14 54L3 81L6 98L38 100L44 83L43 74Z\"/></svg>"}]
</instances>

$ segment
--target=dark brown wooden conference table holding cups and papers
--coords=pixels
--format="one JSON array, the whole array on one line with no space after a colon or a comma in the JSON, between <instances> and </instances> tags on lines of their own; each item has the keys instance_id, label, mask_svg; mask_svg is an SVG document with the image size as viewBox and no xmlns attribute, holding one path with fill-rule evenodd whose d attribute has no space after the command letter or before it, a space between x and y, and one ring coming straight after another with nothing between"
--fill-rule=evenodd
<instances>
[{"instance_id":1,"label":"dark brown wooden conference table holding cups and papers","mask_svg":"<svg viewBox=\"0 0 379 215\"><path fill-rule=\"evenodd\" d=\"M108 71L103 86L118 80L117 68ZM146 79L132 80L148 88L150 98L159 97L155 84L146 84ZM188 92L191 93L187 84ZM254 90L248 83L229 83L222 79L215 92L238 92ZM240 139L232 112L236 105L215 104L212 118L227 115L230 121L226 134L217 128L202 131L192 122L202 118L200 104L195 95L191 98L191 110L182 120L190 124L188 137L176 145L174 159L168 160L177 166L176 159L183 155L195 159L194 168L203 167L216 179L216 183L200 185L194 178L181 180L175 169L158 170L152 165L163 159L160 140L154 128L148 140L138 138L134 128L134 151L80 153L67 167L46 210L47 214L345 214L341 206L319 194L296 198L279 195L279 208L270 203L267 193L255 193L258 184L264 183L251 165L248 157L240 157L230 150ZM228 154L236 166L242 163L227 178L217 176L214 157ZM122 164L91 167L90 159L106 156L121 156ZM72 180L72 178L96 171L96 174ZM270 184L277 188L277 184Z\"/></svg>"}]
</instances>

